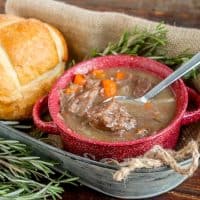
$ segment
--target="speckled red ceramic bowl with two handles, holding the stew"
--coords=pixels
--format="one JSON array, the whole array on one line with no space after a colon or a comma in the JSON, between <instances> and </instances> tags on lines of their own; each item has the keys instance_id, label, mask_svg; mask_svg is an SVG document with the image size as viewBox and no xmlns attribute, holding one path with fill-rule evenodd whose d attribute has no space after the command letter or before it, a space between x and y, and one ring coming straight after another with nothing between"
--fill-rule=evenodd
<instances>
[{"instance_id":1,"label":"speckled red ceramic bowl with two handles, holding the stew","mask_svg":"<svg viewBox=\"0 0 200 200\"><path fill-rule=\"evenodd\" d=\"M83 155L89 153L97 160L102 158L124 158L135 157L144 154L154 145L161 145L164 148L175 147L180 127L200 120L200 96L192 89L187 89L182 80L176 81L171 89L176 97L176 114L171 123L156 135L127 142L101 142L88 139L75 133L60 117L60 90L73 79L74 74L86 74L93 69L105 69L114 67L128 67L144 70L155 74L158 77L167 77L172 70L167 66L148 58L137 56L104 56L81 62L67 70L56 82L49 96L40 99L33 108L33 119L36 126L44 132L60 134L66 150ZM197 106L195 111L186 111L188 106L188 94ZM42 110L48 105L51 115L51 122L44 122L41 119ZM167 113L163 113L167 114Z\"/></svg>"}]
</instances>

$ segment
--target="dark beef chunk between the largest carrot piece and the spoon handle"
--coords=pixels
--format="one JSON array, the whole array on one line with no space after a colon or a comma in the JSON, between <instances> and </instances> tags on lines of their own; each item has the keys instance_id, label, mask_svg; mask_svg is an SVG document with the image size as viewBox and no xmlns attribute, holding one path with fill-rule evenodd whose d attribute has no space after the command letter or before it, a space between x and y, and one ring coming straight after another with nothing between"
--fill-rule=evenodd
<instances>
[{"instance_id":1,"label":"dark beef chunk between the largest carrot piece and the spoon handle","mask_svg":"<svg viewBox=\"0 0 200 200\"><path fill-rule=\"evenodd\" d=\"M135 98L141 97L146 92L148 92L152 87L150 80L142 77L134 76L132 78L132 83L133 83L133 97Z\"/></svg>"}]
</instances>

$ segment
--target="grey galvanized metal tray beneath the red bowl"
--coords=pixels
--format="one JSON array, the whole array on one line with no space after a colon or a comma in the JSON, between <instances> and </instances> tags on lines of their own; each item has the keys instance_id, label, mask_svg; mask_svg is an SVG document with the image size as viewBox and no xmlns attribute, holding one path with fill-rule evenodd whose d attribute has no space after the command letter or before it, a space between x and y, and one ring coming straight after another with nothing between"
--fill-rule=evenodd
<instances>
[{"instance_id":1,"label":"grey galvanized metal tray beneath the red bowl","mask_svg":"<svg viewBox=\"0 0 200 200\"><path fill-rule=\"evenodd\" d=\"M113 197L123 199L154 197L172 190L187 179L186 176L182 176L168 167L160 167L137 170L132 172L125 181L117 182L113 180L113 174L118 169L117 166L96 162L60 150L2 123L0 123L0 137L27 144L33 150L33 155L60 163L56 170L68 170L80 177L83 185ZM180 164L187 166L190 163L191 159L188 159Z\"/></svg>"}]
</instances>

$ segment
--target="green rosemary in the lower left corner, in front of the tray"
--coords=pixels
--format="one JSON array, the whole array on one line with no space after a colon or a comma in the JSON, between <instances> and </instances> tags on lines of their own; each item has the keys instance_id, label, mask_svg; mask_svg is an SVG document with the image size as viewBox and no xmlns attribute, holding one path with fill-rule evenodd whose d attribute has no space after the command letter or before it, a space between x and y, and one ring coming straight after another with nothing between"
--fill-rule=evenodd
<instances>
[{"instance_id":1,"label":"green rosemary in the lower left corner, in front of the tray","mask_svg":"<svg viewBox=\"0 0 200 200\"><path fill-rule=\"evenodd\" d=\"M30 156L26 145L0 138L0 199L61 199L61 184L75 184L77 177L55 175L54 164Z\"/></svg>"}]
</instances>

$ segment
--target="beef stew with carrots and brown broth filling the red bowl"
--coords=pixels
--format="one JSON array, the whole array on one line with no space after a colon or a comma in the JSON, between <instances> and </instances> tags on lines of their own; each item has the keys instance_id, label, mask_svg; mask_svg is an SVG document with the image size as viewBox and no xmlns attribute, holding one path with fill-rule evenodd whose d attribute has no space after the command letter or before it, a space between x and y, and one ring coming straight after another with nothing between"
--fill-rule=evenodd
<instances>
[{"instance_id":1,"label":"beef stew with carrots and brown broth filling the red bowl","mask_svg":"<svg viewBox=\"0 0 200 200\"><path fill-rule=\"evenodd\" d=\"M158 82L153 74L128 68L77 74L61 91L61 116L69 128L91 140L131 141L156 134L175 115L176 100L170 88L142 106L103 101L115 95L140 97Z\"/></svg>"}]
</instances>

